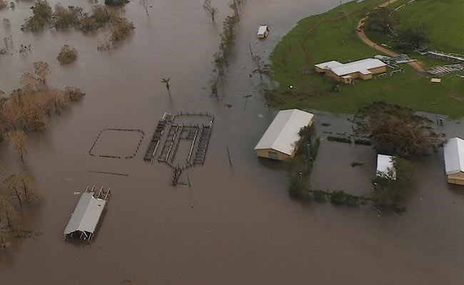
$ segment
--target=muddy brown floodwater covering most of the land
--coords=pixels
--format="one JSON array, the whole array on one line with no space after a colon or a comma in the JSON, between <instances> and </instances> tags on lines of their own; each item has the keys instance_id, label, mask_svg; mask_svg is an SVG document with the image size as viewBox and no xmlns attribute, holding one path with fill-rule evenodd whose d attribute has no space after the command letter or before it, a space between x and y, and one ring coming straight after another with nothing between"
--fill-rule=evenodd
<instances>
[{"instance_id":1,"label":"muddy brown floodwater covering most of the land","mask_svg":"<svg viewBox=\"0 0 464 285\"><path fill-rule=\"evenodd\" d=\"M91 5L78 2L72 3ZM218 2L221 23L229 11L227 1ZM255 66L248 43L266 58L297 19L336 4L338 0L248 0L218 100L209 96L208 81L221 25L211 24L200 0L153 1L149 19L137 1L131 2L126 16L136 31L109 52L96 51L106 31L22 33L19 24L31 13L30 4L19 2L15 11L0 11L0 18L11 20L11 31L0 28L2 38L8 32L16 47L32 45L29 54L0 58L0 89L11 91L34 61L47 61L51 86L79 86L87 93L51 118L44 133L29 136L24 167L44 198L39 207L24 212L24 220L41 235L17 242L2 255L0 284L462 284L464 190L446 184L442 153L418 163L408 212L377 217L368 207L291 200L286 172L253 152L275 111L264 106L258 76L249 77ZM256 41L260 24L271 25L266 41ZM64 43L79 51L76 63L66 67L56 61ZM165 77L171 77L171 98L160 82ZM142 160L166 111L216 115L205 165L188 170L191 189L171 187L169 167ZM318 114L318 123L333 122L333 128L346 120ZM137 156L91 157L89 148L105 128L144 130ZM464 135L455 122L445 128ZM321 167L313 180L326 188L346 181L367 192L368 184L360 180L370 170L340 177L341 167L333 167L339 152L351 151L339 145L323 140L318 160L324 163L316 162ZM369 148L355 151L370 157ZM12 168L21 166L9 145L2 143L0 152ZM352 156L346 154L345 160ZM111 187L108 210L90 245L64 242L61 234L79 200L74 192L86 185Z\"/></svg>"}]
</instances>

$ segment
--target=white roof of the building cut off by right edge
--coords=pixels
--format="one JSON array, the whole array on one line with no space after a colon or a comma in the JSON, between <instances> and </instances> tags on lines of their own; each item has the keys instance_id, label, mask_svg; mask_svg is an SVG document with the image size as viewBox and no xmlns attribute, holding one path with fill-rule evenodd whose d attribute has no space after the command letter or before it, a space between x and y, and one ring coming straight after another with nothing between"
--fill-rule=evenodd
<instances>
[{"instance_id":1,"label":"white roof of the building cut off by right edge","mask_svg":"<svg viewBox=\"0 0 464 285\"><path fill-rule=\"evenodd\" d=\"M464 140L450 138L443 150L446 175L464 172Z\"/></svg>"}]
</instances>

